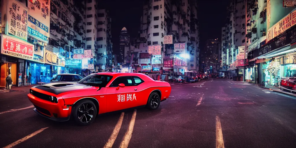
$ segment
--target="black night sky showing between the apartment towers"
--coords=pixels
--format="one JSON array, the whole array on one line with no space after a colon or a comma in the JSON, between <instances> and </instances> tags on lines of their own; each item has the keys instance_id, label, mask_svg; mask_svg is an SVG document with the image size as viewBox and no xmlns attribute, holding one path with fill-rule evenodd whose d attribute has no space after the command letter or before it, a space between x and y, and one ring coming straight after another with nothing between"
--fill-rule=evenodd
<instances>
[{"instance_id":1,"label":"black night sky showing between the apartment towers","mask_svg":"<svg viewBox=\"0 0 296 148\"><path fill-rule=\"evenodd\" d=\"M221 27L225 24L226 6L229 0L197 0L200 25L200 49L208 39L221 40ZM101 0L101 4L110 12L113 51L119 52L120 30L126 27L131 37L136 37L143 13L143 0Z\"/></svg>"}]
</instances>

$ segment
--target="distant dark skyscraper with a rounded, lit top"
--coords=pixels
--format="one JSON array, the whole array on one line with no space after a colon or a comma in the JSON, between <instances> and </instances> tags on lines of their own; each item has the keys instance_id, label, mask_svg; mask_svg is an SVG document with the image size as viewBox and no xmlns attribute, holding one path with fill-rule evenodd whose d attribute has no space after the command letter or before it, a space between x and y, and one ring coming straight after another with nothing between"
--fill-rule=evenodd
<instances>
[{"instance_id":1,"label":"distant dark skyscraper with a rounded, lit top","mask_svg":"<svg viewBox=\"0 0 296 148\"><path fill-rule=\"evenodd\" d=\"M124 60L124 48L129 46L129 34L125 27L121 29L119 36L119 59L118 62L123 62Z\"/></svg>"}]
</instances>

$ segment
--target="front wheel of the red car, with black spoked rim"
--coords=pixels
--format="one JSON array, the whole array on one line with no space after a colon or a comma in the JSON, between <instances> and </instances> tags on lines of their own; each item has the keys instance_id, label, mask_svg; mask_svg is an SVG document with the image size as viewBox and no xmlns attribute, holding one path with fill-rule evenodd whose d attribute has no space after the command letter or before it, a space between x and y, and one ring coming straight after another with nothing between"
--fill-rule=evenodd
<instances>
[{"instance_id":1,"label":"front wheel of the red car, with black spoked rim","mask_svg":"<svg viewBox=\"0 0 296 148\"><path fill-rule=\"evenodd\" d=\"M96 118L96 105L89 99L81 100L75 105L72 113L78 125L87 126Z\"/></svg>"}]
</instances>

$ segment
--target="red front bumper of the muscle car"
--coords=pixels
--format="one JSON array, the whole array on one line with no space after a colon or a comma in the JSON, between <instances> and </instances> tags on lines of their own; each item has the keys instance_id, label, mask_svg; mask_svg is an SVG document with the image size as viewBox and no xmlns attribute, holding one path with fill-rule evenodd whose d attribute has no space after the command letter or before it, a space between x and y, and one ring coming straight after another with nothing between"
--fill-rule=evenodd
<instances>
[{"instance_id":1,"label":"red front bumper of the muscle car","mask_svg":"<svg viewBox=\"0 0 296 148\"><path fill-rule=\"evenodd\" d=\"M63 99L59 99L58 103L53 103L32 94L28 94L28 98L35 106L34 111L37 114L54 121L67 121L70 119L72 107L64 105Z\"/></svg>"}]
</instances>

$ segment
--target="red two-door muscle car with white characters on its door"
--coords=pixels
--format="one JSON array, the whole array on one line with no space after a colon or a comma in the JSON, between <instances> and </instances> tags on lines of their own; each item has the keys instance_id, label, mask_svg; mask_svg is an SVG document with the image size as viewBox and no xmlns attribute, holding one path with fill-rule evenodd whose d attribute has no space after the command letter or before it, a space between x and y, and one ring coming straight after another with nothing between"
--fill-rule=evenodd
<instances>
[{"instance_id":1,"label":"red two-door muscle car with white characters on its door","mask_svg":"<svg viewBox=\"0 0 296 148\"><path fill-rule=\"evenodd\" d=\"M94 73L78 83L62 82L34 86L28 98L34 111L55 121L72 116L83 126L98 114L146 105L156 110L170 95L167 82L141 73Z\"/></svg>"}]
</instances>

